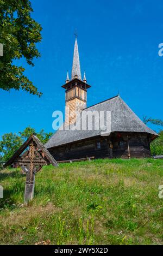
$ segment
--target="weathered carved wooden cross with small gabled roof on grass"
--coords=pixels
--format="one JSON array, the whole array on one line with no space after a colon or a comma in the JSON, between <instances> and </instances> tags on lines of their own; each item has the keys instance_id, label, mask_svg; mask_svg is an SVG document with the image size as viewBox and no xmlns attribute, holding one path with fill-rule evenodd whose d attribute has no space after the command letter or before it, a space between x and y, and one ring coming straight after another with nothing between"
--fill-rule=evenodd
<instances>
[{"instance_id":1,"label":"weathered carved wooden cross with small gabled roof on grass","mask_svg":"<svg viewBox=\"0 0 163 256\"><path fill-rule=\"evenodd\" d=\"M8 162L5 163L4 167L11 164L21 166L22 171L27 175L24 193L25 204L28 204L28 202L33 199L36 172L40 171L43 165L52 164L53 166L58 166L53 156L34 134L24 142Z\"/></svg>"}]
</instances>

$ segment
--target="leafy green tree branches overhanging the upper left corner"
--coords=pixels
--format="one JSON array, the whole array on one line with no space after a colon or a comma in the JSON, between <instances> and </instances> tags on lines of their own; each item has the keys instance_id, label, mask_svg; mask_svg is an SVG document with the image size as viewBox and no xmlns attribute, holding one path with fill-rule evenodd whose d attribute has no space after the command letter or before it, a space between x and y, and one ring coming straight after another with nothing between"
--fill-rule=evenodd
<instances>
[{"instance_id":1,"label":"leafy green tree branches overhanging the upper left corner","mask_svg":"<svg viewBox=\"0 0 163 256\"><path fill-rule=\"evenodd\" d=\"M3 57L0 57L0 88L23 90L41 96L26 76L24 68L15 66L13 59L24 57L29 65L40 57L36 43L41 41L41 25L31 17L33 12L29 0L0 0L0 43Z\"/></svg>"}]
</instances>

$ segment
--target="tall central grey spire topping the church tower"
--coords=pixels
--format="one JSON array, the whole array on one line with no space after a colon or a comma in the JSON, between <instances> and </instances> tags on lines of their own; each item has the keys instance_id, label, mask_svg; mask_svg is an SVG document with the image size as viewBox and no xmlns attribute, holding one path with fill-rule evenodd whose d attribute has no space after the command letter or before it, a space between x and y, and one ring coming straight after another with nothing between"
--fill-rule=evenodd
<instances>
[{"instance_id":1,"label":"tall central grey spire topping the church tower","mask_svg":"<svg viewBox=\"0 0 163 256\"><path fill-rule=\"evenodd\" d=\"M74 77L82 79L81 71L80 71L80 61L79 61L79 51L78 51L77 38L76 38L76 41L75 41L75 44L74 44L71 79L73 79Z\"/></svg>"}]
</instances>

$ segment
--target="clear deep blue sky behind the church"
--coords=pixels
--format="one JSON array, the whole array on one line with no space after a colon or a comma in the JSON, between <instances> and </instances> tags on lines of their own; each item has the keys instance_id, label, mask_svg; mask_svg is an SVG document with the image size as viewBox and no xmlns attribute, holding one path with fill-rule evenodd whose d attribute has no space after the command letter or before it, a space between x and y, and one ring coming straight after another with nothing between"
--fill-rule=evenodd
<instances>
[{"instance_id":1,"label":"clear deep blue sky behind the church","mask_svg":"<svg viewBox=\"0 0 163 256\"><path fill-rule=\"evenodd\" d=\"M23 59L17 64L26 68L43 96L0 90L0 135L27 126L53 131L52 112L64 111L61 85L72 68L76 28L82 74L85 70L92 86L87 106L119 91L140 118L163 119L163 57L158 56L158 45L163 43L162 1L32 0L32 5L32 16L43 27L37 45L41 58L35 59L35 67Z\"/></svg>"}]
</instances>

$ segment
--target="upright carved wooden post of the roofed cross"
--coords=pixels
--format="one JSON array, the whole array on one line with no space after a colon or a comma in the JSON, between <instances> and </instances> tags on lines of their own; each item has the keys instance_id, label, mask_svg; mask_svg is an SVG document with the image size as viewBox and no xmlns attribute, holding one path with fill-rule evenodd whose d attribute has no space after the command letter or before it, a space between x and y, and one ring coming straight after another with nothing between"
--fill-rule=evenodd
<instances>
[{"instance_id":1,"label":"upright carved wooden post of the roofed cross","mask_svg":"<svg viewBox=\"0 0 163 256\"><path fill-rule=\"evenodd\" d=\"M29 157L30 164L28 167L27 177L26 177L26 188L24 192L24 204L28 204L34 197L34 185L35 185L35 174L34 174L34 145L33 143L29 145Z\"/></svg>"}]
</instances>

